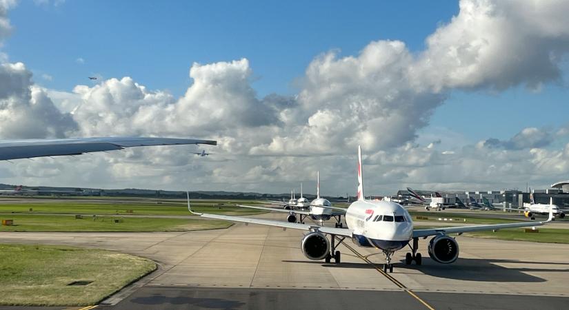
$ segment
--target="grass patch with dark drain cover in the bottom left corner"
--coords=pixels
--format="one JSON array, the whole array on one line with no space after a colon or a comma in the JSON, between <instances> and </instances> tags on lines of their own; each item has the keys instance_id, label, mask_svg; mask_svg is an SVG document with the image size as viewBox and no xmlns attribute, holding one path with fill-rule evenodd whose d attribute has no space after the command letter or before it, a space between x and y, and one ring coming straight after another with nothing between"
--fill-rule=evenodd
<instances>
[{"instance_id":1,"label":"grass patch with dark drain cover in the bottom left corner","mask_svg":"<svg viewBox=\"0 0 569 310\"><path fill-rule=\"evenodd\" d=\"M3 305L96 304L156 268L128 254L46 245L0 245L0 257Z\"/></svg>"}]
</instances>

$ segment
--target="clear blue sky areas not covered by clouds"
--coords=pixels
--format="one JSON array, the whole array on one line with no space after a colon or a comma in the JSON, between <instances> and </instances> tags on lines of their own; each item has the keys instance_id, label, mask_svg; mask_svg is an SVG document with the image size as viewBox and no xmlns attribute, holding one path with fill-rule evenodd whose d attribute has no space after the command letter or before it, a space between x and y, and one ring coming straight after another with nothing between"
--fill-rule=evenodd
<instances>
[{"instance_id":1,"label":"clear blue sky areas not covered by clouds","mask_svg":"<svg viewBox=\"0 0 569 310\"><path fill-rule=\"evenodd\" d=\"M131 76L181 96L192 63L246 57L259 96L295 94L295 80L318 54L355 55L378 39L401 40L419 52L428 34L457 11L455 1L359 1L349 7L329 1L22 1L10 12L15 30L4 50L10 61L26 63L37 83L56 90L70 91L90 75ZM565 124L567 94L559 85L541 92L455 91L431 123L460 128L469 142L508 138L523 127ZM536 105L559 113L543 117L531 112Z\"/></svg>"}]
</instances>

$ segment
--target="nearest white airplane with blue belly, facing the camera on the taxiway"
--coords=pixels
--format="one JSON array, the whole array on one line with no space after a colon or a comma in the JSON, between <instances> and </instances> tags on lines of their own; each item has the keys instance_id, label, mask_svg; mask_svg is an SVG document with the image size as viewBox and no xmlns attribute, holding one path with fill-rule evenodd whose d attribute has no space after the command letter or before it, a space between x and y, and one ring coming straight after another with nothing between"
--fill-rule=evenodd
<instances>
[{"instance_id":1,"label":"nearest white airplane with blue belly, facing the camera on the taxiway","mask_svg":"<svg viewBox=\"0 0 569 310\"><path fill-rule=\"evenodd\" d=\"M397 203L381 200L365 200L363 196L363 175L361 167L361 147L358 146L358 169L357 169L357 200L346 210L346 228L326 227L319 225L306 225L288 223L279 220L266 220L260 218L247 218L241 216L223 216L218 214L197 213L190 206L190 193L188 192L188 211L202 218L214 218L217 220L229 220L246 224L268 225L282 227L283 229L299 229L308 231L301 240L301 251L310 260L325 260L330 262L332 258L336 263L341 262L341 253L337 247L346 238L352 240L360 247L375 247L386 256L386 264L383 272L393 272L391 258L395 251L403 249L412 243L411 252L406 254L405 263L410 265L415 261L421 265L419 238L433 238L428 245L428 254L432 260L443 264L455 262L459 256L459 245L450 234L463 234L470 231L497 231L498 229L515 227L532 227L545 225L552 218L552 210L548 220L544 222L522 222L493 225L455 226L432 229L414 229L409 212ZM335 207L328 207L335 209ZM330 236L330 240L328 240ZM338 242L336 242L338 241Z\"/></svg>"}]
</instances>

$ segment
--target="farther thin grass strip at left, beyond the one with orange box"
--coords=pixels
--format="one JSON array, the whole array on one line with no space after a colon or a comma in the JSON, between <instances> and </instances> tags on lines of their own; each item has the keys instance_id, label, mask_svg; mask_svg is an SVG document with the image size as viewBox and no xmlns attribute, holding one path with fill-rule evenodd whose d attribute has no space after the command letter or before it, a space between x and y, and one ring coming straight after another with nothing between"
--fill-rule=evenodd
<instances>
[{"instance_id":1,"label":"farther thin grass strip at left, beyond the one with orange box","mask_svg":"<svg viewBox=\"0 0 569 310\"><path fill-rule=\"evenodd\" d=\"M223 200L219 201L192 201L192 209L197 212L226 214L226 215L247 215L260 214L262 211L235 207L236 203L258 205L258 201L238 201ZM32 209L32 211L30 211ZM190 215L188 205L185 201L164 201L161 203L141 200L140 202L116 203L101 200L101 202L81 202L81 200L69 199L66 201L48 201L42 203L12 203L10 200L2 200L0 213L50 213L50 214L132 214L142 215Z\"/></svg>"}]
</instances>

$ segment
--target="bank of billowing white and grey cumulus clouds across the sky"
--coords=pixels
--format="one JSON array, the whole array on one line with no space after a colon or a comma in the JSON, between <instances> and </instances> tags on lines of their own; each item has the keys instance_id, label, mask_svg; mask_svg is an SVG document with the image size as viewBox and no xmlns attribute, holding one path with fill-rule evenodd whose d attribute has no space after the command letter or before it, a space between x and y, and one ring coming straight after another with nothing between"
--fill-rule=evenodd
<instances>
[{"instance_id":1,"label":"bank of billowing white and grey cumulus clouds across the sky","mask_svg":"<svg viewBox=\"0 0 569 310\"><path fill-rule=\"evenodd\" d=\"M419 52L397 40L373 41L350 56L323 52L306 68L295 96L259 98L247 59L194 63L192 83L179 98L128 76L77 85L70 93L42 90L23 64L4 63L2 70L10 73L0 72L0 136L162 135L220 142L208 161L188 156L195 147L158 147L79 158L73 162L77 171L43 162L50 165L44 173L49 180L65 175L95 185L285 192L283 186L312 180L319 169L328 185L323 191L343 194L353 187L358 144L366 153L366 184L375 185L368 192L420 184L548 184L546 178L568 174L569 147L552 150L556 135L547 130L529 127L503 141L466 146L446 136L418 138L452 90L537 89L561 76L569 3L462 0L459 7ZM0 21L5 16L0 10ZM81 173L87 170L97 172ZM26 171L26 180L37 177Z\"/></svg>"}]
</instances>

